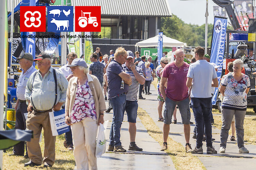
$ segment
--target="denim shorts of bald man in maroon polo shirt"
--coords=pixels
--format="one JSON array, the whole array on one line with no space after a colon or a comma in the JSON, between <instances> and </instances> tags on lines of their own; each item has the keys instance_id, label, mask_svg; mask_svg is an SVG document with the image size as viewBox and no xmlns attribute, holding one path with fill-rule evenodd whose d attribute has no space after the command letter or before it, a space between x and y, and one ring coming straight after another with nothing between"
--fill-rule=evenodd
<instances>
[{"instance_id":1,"label":"denim shorts of bald man in maroon polo shirt","mask_svg":"<svg viewBox=\"0 0 256 170\"><path fill-rule=\"evenodd\" d=\"M168 97L165 98L165 110L163 112L165 124L171 124L173 111L178 105L181 113L182 123L183 124L190 124L190 109L189 109L189 99L186 98L181 101L174 101L169 99Z\"/></svg>"}]
</instances>

